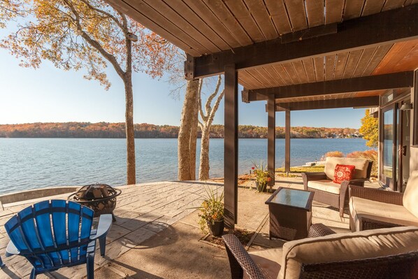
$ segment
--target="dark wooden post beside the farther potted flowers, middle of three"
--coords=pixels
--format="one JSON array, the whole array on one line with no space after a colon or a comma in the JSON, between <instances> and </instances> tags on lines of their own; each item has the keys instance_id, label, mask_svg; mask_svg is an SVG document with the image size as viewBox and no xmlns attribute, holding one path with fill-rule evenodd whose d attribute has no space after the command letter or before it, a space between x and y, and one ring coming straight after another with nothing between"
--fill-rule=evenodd
<instances>
[{"instance_id":1,"label":"dark wooden post beside the farther potted flowers, middle of three","mask_svg":"<svg viewBox=\"0 0 418 279\"><path fill-rule=\"evenodd\" d=\"M267 101L268 112L268 132L267 132L267 169L274 174L275 171L275 129L276 129L276 112L275 112L275 98L274 95L268 95ZM273 179L268 183L268 186L274 185Z\"/></svg>"}]
</instances>

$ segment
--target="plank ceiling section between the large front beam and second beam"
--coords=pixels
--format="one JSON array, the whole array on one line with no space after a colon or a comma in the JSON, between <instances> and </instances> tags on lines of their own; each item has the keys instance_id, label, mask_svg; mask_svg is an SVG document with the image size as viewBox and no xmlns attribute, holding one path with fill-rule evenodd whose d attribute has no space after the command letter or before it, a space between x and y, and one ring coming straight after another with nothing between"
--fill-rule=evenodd
<instances>
[{"instance_id":1,"label":"plank ceiling section between the large front beam and second beam","mask_svg":"<svg viewBox=\"0 0 418 279\"><path fill-rule=\"evenodd\" d=\"M418 15L417 15L418 16ZM239 72L247 90L358 78L418 68L418 39Z\"/></svg>"}]
</instances>

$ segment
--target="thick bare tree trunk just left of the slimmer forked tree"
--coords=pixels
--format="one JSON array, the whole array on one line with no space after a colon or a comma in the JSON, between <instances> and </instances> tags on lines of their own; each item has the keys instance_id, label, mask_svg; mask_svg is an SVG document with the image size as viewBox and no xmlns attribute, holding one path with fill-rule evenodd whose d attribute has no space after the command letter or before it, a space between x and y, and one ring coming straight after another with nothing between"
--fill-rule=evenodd
<instances>
[{"instance_id":1,"label":"thick bare tree trunk just left of the slimmer forked tree","mask_svg":"<svg viewBox=\"0 0 418 279\"><path fill-rule=\"evenodd\" d=\"M178 132L178 180L192 180L190 171L190 136L192 131L194 106L197 103L199 80L188 80L186 87L185 102L182 108L180 131Z\"/></svg>"}]
</instances>

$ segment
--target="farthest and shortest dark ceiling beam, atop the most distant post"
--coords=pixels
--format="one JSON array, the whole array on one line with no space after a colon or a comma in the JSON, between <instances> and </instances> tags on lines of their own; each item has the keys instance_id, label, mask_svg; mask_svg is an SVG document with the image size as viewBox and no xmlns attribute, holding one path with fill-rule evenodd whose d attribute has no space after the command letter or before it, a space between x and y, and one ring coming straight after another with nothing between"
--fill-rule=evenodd
<instances>
[{"instance_id":1,"label":"farthest and shortest dark ceiling beam, atop the most distant post","mask_svg":"<svg viewBox=\"0 0 418 279\"><path fill-rule=\"evenodd\" d=\"M298 101L276 103L276 111L320 110L324 108L356 108L379 106L379 96L354 97L346 99L326 99L321 101Z\"/></svg>"}]
</instances>

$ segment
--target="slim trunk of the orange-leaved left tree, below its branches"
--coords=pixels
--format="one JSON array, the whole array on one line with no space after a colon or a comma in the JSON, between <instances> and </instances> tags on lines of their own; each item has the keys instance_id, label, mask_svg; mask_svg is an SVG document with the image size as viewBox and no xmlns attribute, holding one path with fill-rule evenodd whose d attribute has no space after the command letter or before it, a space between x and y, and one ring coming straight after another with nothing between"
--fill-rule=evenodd
<instances>
[{"instance_id":1,"label":"slim trunk of the orange-leaved left tree, below its branches","mask_svg":"<svg viewBox=\"0 0 418 279\"><path fill-rule=\"evenodd\" d=\"M127 75L128 76L128 75ZM136 183L135 171L135 132L134 132L134 94L132 91L131 75L124 81L126 99L126 134L127 134L127 185Z\"/></svg>"}]
</instances>

